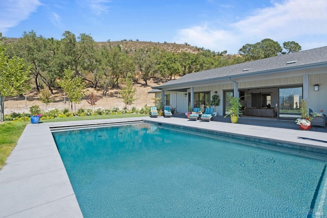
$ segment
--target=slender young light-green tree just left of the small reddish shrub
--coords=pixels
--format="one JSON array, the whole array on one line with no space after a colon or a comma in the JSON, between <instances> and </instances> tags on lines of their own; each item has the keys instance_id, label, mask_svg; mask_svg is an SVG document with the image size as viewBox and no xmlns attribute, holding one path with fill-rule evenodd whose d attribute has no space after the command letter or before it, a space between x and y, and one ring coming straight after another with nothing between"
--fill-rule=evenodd
<instances>
[{"instance_id":1,"label":"slender young light-green tree just left of the small reddish shrub","mask_svg":"<svg viewBox=\"0 0 327 218\"><path fill-rule=\"evenodd\" d=\"M81 76L74 76L74 72L72 70L65 70L63 79L59 82L59 85L67 94L69 101L72 102L72 110L73 102L80 103L82 97L86 95L84 91L85 82L83 78Z\"/></svg>"}]
</instances>

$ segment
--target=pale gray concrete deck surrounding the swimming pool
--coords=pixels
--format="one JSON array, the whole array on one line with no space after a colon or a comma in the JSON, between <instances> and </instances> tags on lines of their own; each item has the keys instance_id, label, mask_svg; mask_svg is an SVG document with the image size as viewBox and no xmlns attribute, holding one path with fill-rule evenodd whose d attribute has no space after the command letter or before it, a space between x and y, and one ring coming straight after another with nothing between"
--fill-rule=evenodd
<instances>
[{"instance_id":1,"label":"pale gray concrete deck surrounding the swimming pool","mask_svg":"<svg viewBox=\"0 0 327 218\"><path fill-rule=\"evenodd\" d=\"M190 121L173 116L28 124L0 170L0 217L83 217L52 137L51 126L144 120L327 150L327 129L323 127L308 131L300 130L294 121L272 121L273 126L262 126L259 124L262 120L242 119L233 124L217 122L219 119Z\"/></svg>"}]
</instances>

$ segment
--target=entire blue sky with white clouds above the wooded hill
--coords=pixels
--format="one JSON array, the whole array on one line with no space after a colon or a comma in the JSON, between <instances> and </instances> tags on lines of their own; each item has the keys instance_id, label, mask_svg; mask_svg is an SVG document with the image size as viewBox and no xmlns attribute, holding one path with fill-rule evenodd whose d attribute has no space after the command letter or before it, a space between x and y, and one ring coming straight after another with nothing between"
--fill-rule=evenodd
<instances>
[{"instance_id":1,"label":"entire blue sky with white clouds above the wooded hill","mask_svg":"<svg viewBox=\"0 0 327 218\"><path fill-rule=\"evenodd\" d=\"M0 33L19 38L65 31L95 41L188 43L237 54L265 38L327 46L326 0L1 0Z\"/></svg>"}]
</instances>

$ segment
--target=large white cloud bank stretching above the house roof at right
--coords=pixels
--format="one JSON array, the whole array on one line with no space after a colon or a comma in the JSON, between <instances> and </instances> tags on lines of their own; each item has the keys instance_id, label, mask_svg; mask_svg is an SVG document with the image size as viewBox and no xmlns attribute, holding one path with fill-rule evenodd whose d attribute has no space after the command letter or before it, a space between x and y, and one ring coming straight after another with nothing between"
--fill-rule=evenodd
<instances>
[{"instance_id":1,"label":"large white cloud bank stretching above the house roof at right","mask_svg":"<svg viewBox=\"0 0 327 218\"><path fill-rule=\"evenodd\" d=\"M286 0L272 4L272 7L253 11L251 16L230 24L226 30L213 24L179 30L175 41L215 51L227 50L228 53L237 53L246 43L264 38L271 38L281 45L284 41L294 40L302 50L327 45L327 1ZM322 41L317 42L317 38Z\"/></svg>"}]
</instances>

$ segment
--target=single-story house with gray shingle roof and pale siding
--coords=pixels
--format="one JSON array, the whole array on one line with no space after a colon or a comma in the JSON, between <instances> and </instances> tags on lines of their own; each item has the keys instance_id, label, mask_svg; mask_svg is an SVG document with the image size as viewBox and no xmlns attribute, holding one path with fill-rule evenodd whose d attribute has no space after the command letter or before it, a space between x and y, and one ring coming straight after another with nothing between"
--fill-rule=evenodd
<instances>
[{"instance_id":1,"label":"single-story house with gray shingle roof and pale siding","mask_svg":"<svg viewBox=\"0 0 327 218\"><path fill-rule=\"evenodd\" d=\"M313 111L327 112L327 47L187 74L154 89L161 90L156 97L162 97L164 105L177 106L179 113L191 104L215 107L223 116L230 96L240 97L248 113L250 108L273 110L272 114L259 110L259 116L299 117L302 98ZM210 105L214 94L220 96L219 106Z\"/></svg>"}]
</instances>

